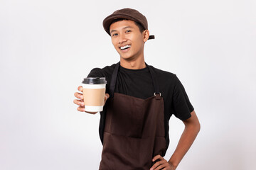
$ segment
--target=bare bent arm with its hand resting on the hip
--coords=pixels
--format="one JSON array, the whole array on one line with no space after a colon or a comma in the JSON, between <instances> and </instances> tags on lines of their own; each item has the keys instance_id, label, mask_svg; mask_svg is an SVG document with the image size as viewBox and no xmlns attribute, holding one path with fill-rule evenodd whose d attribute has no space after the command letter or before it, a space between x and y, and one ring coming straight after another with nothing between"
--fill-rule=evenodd
<instances>
[{"instance_id":1,"label":"bare bent arm with its hand resting on the hip","mask_svg":"<svg viewBox=\"0 0 256 170\"><path fill-rule=\"evenodd\" d=\"M183 120L183 123L185 125L185 129L183 130L181 138L178 141L178 145L174 151L174 154L172 154L171 159L169 159L169 161L167 162L160 155L156 155L156 157L154 157L152 161L154 162L157 159L160 159L160 161L156 162L156 164L154 164L150 170L175 170L177 168L178 164L181 162L181 159L184 157L186 152L188 152L188 149L193 144L193 141L196 139L196 136L198 135L198 132L200 130L200 123L195 111L192 111L191 118Z\"/></svg>"}]
</instances>

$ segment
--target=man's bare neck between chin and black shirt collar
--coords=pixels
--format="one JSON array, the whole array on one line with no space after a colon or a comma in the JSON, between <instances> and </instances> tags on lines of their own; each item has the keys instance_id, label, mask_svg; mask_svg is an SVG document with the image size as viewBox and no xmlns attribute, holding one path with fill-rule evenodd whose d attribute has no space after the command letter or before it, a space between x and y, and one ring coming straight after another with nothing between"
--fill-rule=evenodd
<instances>
[{"instance_id":1,"label":"man's bare neck between chin and black shirt collar","mask_svg":"<svg viewBox=\"0 0 256 170\"><path fill-rule=\"evenodd\" d=\"M126 69L144 69L146 67L146 63L144 57L139 57L137 60L124 60L122 57L120 58L120 65Z\"/></svg>"}]
</instances>

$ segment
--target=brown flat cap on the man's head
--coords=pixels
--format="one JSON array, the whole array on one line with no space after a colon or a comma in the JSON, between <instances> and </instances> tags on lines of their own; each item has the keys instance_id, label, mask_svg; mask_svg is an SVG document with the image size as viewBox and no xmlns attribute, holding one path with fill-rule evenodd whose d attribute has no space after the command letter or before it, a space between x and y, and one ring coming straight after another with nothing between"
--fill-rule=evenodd
<instances>
[{"instance_id":1,"label":"brown flat cap on the man's head","mask_svg":"<svg viewBox=\"0 0 256 170\"><path fill-rule=\"evenodd\" d=\"M137 23L142 24L145 30L148 29L148 23L146 21L146 17L142 15L142 13L132 8L123 8L123 9L114 11L114 13L112 13L110 16L107 16L107 18L104 19L103 27L109 35L110 35L110 25L116 19L127 19L131 21L135 21ZM154 35L150 35L149 39L154 39Z\"/></svg>"}]
</instances>

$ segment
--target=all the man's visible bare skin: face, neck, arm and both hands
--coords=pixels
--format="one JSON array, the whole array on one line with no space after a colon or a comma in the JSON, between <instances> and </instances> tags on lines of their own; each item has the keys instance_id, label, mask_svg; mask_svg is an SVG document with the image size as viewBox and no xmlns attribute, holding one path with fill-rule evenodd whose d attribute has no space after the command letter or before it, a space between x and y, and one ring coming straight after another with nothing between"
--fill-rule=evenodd
<instances>
[{"instance_id":1,"label":"all the man's visible bare skin: face, neck, arm and both hands","mask_svg":"<svg viewBox=\"0 0 256 170\"><path fill-rule=\"evenodd\" d=\"M117 50L120 56L120 64L122 67L127 69L143 69L146 67L144 61L144 44L149 38L149 30L144 30L140 32L139 27L134 23L134 21L117 21L112 23L110 26L110 35L112 44ZM131 45L128 50L121 50L120 47L125 45ZM82 86L78 86L78 91L82 92ZM82 101L82 94L76 92L75 99L73 102L78 105L78 111L84 112L85 106ZM109 98L109 94L105 94L105 101ZM96 112L87 112L95 114ZM174 154L167 161L164 157L156 155L152 162L159 159L150 170L153 169L164 169L164 170L175 170L181 159L184 157L188 149L193 144L196 139L198 132L200 130L200 123L196 116L195 111L191 112L191 118L183 120L185 129L181 135Z\"/></svg>"}]
</instances>

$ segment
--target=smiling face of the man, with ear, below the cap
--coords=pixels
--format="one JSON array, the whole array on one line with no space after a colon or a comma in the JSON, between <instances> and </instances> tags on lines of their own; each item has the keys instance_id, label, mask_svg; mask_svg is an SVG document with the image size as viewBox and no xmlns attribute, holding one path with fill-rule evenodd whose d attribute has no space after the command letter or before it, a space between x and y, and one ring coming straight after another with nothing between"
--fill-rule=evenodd
<instances>
[{"instance_id":1,"label":"smiling face of the man, with ear, below the cap","mask_svg":"<svg viewBox=\"0 0 256 170\"><path fill-rule=\"evenodd\" d=\"M122 20L111 24L110 35L120 60L144 58L144 43L149 38L149 30L141 32L134 21Z\"/></svg>"}]
</instances>

